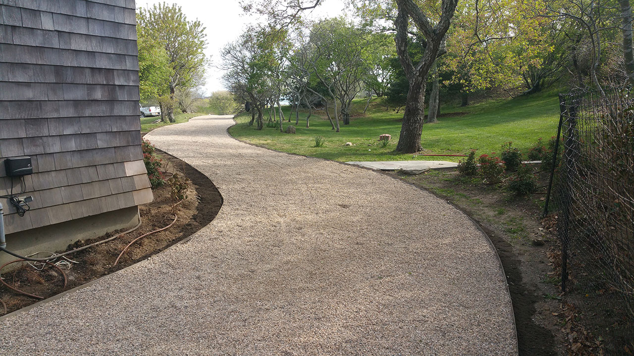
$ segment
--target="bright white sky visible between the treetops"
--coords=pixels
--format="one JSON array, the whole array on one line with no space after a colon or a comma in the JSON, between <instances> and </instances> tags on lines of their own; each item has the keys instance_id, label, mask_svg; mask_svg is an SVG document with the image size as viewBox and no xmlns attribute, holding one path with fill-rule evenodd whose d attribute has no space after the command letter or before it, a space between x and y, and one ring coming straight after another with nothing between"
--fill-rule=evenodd
<instances>
[{"instance_id":1,"label":"bright white sky visible between the treetops","mask_svg":"<svg viewBox=\"0 0 634 356\"><path fill-rule=\"evenodd\" d=\"M164 0L137 0L137 8L147 8L153 4L162 3ZM198 18L202 24L207 27L207 50L205 54L211 58L213 64L219 64L222 61L220 51L228 42L238 38L242 31L247 27L253 18L244 15L238 0L172 0L183 8L183 13L188 20ZM167 3L172 1L165 0ZM302 16L305 18L325 18L342 15L346 9L342 0L322 0L321 4L315 10L310 11ZM223 73L221 70L213 67L207 68L207 80L204 87L207 95L213 91L223 90L223 82L221 80Z\"/></svg>"}]
</instances>

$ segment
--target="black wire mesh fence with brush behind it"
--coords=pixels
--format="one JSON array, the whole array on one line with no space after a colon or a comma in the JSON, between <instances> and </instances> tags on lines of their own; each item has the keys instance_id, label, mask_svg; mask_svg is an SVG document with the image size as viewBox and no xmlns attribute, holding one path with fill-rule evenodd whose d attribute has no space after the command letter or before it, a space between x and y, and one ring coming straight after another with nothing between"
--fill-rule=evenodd
<instances>
[{"instance_id":1,"label":"black wire mesh fence with brush behind it","mask_svg":"<svg viewBox=\"0 0 634 356\"><path fill-rule=\"evenodd\" d=\"M546 207L557 215L564 302L605 355L634 353L633 94L560 94Z\"/></svg>"}]
</instances>

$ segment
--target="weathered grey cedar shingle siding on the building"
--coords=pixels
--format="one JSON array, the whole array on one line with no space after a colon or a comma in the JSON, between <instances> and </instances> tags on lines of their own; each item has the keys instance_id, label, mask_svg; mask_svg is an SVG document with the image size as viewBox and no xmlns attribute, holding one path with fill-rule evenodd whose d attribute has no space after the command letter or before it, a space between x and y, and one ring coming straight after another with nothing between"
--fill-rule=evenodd
<instances>
[{"instance_id":1,"label":"weathered grey cedar shingle siding on the building","mask_svg":"<svg viewBox=\"0 0 634 356\"><path fill-rule=\"evenodd\" d=\"M4 158L34 168L24 217L0 199L7 233L152 201L135 24L134 0L0 0L0 196Z\"/></svg>"}]
</instances>

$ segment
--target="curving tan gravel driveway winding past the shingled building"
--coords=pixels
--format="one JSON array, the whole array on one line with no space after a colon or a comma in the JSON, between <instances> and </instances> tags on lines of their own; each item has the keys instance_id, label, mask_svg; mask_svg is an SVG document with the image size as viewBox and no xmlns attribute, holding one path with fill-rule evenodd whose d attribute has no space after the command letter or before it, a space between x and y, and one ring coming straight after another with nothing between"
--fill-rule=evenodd
<instances>
[{"instance_id":1,"label":"curving tan gravel driveway winding past the shingled building","mask_svg":"<svg viewBox=\"0 0 634 356\"><path fill-rule=\"evenodd\" d=\"M224 196L185 244L0 322L0 355L514 355L486 237L378 172L231 139L148 134Z\"/></svg>"}]
</instances>

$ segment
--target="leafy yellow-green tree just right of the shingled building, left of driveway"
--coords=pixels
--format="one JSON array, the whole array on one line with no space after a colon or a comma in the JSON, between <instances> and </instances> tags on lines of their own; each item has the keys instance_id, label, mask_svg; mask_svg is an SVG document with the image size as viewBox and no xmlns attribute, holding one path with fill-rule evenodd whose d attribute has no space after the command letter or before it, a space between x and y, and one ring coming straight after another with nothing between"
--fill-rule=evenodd
<instances>
[{"instance_id":1,"label":"leafy yellow-green tree just right of the shingled building, left of driveway","mask_svg":"<svg viewBox=\"0 0 634 356\"><path fill-rule=\"evenodd\" d=\"M171 69L167 87L169 96L160 103L169 122L175 122L174 104L176 90L195 86L204 72L207 61L205 27L198 21L188 21L181 7L166 3L152 8L139 8L137 27L143 37L164 47Z\"/></svg>"}]
</instances>

